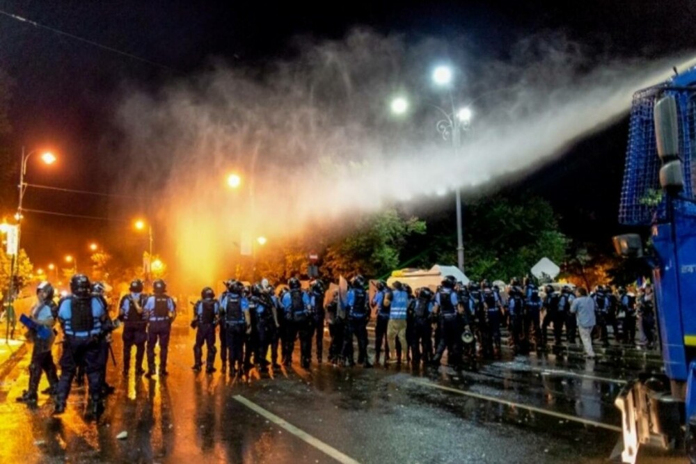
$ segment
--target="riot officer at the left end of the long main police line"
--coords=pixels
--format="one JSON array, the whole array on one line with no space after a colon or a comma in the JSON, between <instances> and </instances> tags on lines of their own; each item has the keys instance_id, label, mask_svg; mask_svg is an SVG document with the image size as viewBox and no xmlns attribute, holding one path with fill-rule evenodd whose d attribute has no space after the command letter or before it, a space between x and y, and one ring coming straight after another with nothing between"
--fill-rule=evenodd
<instances>
[{"instance_id":1,"label":"riot officer at the left end of the long main police line","mask_svg":"<svg viewBox=\"0 0 696 464\"><path fill-rule=\"evenodd\" d=\"M207 351L205 358L205 373L215 371L215 327L220 313L220 303L215 299L215 292L210 287L200 291L200 300L193 307L191 327L196 328L196 344L193 345L193 369L200 372L203 365L203 344Z\"/></svg>"}]
</instances>

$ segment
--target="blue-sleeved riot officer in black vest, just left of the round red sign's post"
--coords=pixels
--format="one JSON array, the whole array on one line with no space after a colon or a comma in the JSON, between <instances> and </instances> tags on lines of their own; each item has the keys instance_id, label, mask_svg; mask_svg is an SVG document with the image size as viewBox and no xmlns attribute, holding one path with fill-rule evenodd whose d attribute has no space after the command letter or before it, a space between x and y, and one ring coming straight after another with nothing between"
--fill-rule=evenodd
<instances>
[{"instance_id":1,"label":"blue-sleeved riot officer in black vest, just left of the round red sign's post","mask_svg":"<svg viewBox=\"0 0 696 464\"><path fill-rule=\"evenodd\" d=\"M288 323L285 366L292 364L292 351L295 339L300 339L300 365L308 369L312 362L312 320L310 319L309 296L302 290L298 278L292 277L287 281L290 290L283 295L283 309Z\"/></svg>"}]
</instances>

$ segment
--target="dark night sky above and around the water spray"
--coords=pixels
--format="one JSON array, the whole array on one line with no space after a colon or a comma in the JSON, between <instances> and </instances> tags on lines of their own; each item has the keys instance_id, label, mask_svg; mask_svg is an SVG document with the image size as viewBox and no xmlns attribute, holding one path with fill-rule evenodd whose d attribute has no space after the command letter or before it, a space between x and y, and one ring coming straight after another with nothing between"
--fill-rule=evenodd
<instances>
[{"instance_id":1,"label":"dark night sky above and around the water spray","mask_svg":"<svg viewBox=\"0 0 696 464\"><path fill-rule=\"evenodd\" d=\"M118 137L111 127L114 102L127 83L155 89L196 74L216 59L262 69L269 61L292 54L298 37L340 39L356 26L401 34L406 41L466 35L482 52L501 58L514 42L543 33L565 35L594 60L656 58L696 50L696 3L688 0L323 5L235 1L227 6L196 1L43 0L0 1L0 10L123 52L0 15L0 70L13 81L9 103L13 131L0 138L0 145L17 159L22 145L29 150L53 147L60 154L60 166L55 171L30 167L27 182L90 191L110 191L119 176L128 175L120 169L118 157L110 156ZM616 218L627 130L624 118L578 141L561 159L507 191L531 191L551 200L564 232L573 237L607 240L621 230ZM595 188L587 191L578 179L592 179ZM8 189L2 191L8 194ZM30 190L25 207L106 216L105 209L115 203L124 207L124 202L129 200ZM33 214L24 225L22 240L38 265L58 262L64 253L82 253L86 259L82 244L90 239L105 246L118 243L129 255L143 249L144 243L129 227L127 222Z\"/></svg>"}]
</instances>

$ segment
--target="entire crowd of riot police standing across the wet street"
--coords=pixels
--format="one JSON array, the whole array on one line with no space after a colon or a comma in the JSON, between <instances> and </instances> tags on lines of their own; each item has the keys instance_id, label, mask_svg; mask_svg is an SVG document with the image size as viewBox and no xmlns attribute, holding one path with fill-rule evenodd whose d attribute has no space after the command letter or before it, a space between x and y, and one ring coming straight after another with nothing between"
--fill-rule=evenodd
<instances>
[{"instance_id":1,"label":"entire crowd of riot police standing across the wet street","mask_svg":"<svg viewBox=\"0 0 696 464\"><path fill-rule=\"evenodd\" d=\"M378 281L370 296L362 275L356 275L345 291L333 290L329 295L326 284L318 279L311 281L307 289L296 277L288 280L287 287L278 289L266 279L251 285L235 279L224 283L226 290L221 295L205 287L200 299L192 303L194 371L204 367L207 374L216 371L218 339L223 374L239 376L254 367L263 372L280 369L280 364L290 366L297 340L300 365L306 369L313 345L317 362L324 360L325 327L330 339L327 360L341 367L357 363L369 368L375 363L388 366L402 362L410 362L413 367L437 367L447 351L448 364L461 369L475 365L479 358L500 358L501 328L506 327L509 346L516 355L546 351L550 328L551 349L557 355L564 351L564 336L567 344L576 344L580 335L585 353L594 357L593 334L608 346L610 328L617 343L635 344L638 328L638 342L654 344L655 307L650 285L645 285L638 296L623 287L615 293L609 286L596 287L588 294L584 288L572 291L567 285L559 291L552 285L539 288L529 278L513 278L501 289L487 280L464 285L448 275L436 289L421 287L415 291L402 282L387 285ZM121 325L124 376L129 375L134 348L136 376L168 375L168 344L177 317L176 303L167 295L164 280L152 283L151 295L143 290L141 280L130 282L129 291L118 303L118 317L111 319L104 285L90 283L86 275L74 275L71 294L57 304L52 285L38 285L37 301L24 321L33 340L29 388L17 401L36 403L40 377L45 373L49 387L42 393L54 397L54 414L61 414L74 379L82 381L86 376L89 412L98 417L104 396L113 391L106 383L106 364L111 333ZM367 326L373 314L375 354L371 361ZM58 333L56 322L63 331L60 377L52 354ZM158 344L159 371L155 359ZM143 365L145 353L147 370Z\"/></svg>"}]
</instances>

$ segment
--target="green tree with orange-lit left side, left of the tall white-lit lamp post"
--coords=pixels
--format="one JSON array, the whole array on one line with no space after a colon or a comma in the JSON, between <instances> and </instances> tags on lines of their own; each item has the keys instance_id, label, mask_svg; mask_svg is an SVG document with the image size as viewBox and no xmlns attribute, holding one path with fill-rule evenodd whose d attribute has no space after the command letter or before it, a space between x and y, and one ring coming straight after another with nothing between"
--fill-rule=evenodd
<instances>
[{"instance_id":1,"label":"green tree with orange-lit left side, left of the tall white-lit lamp post","mask_svg":"<svg viewBox=\"0 0 696 464\"><path fill-rule=\"evenodd\" d=\"M425 221L403 218L394 208L362 216L353 232L327 246L322 271L333 278L356 272L383 275L399 265L406 239L425 231Z\"/></svg>"}]
</instances>

